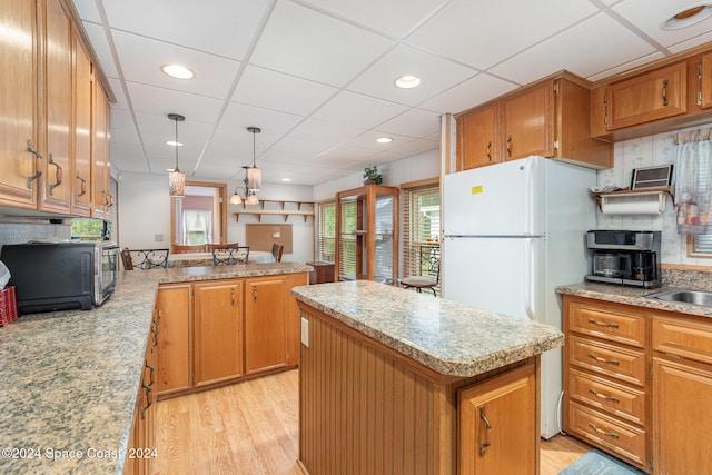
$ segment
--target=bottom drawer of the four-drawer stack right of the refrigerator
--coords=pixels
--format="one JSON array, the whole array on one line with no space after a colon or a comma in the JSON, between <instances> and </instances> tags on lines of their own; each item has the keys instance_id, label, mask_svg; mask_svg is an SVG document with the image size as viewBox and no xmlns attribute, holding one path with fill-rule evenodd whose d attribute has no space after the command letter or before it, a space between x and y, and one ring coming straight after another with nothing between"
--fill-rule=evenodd
<instances>
[{"instance_id":1,"label":"bottom drawer of the four-drawer stack right of the refrigerator","mask_svg":"<svg viewBox=\"0 0 712 475\"><path fill-rule=\"evenodd\" d=\"M572 432L627 462L640 467L644 465L647 459L645 431L576 403L571 403L570 407Z\"/></svg>"}]
</instances>

